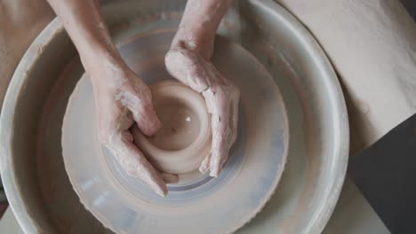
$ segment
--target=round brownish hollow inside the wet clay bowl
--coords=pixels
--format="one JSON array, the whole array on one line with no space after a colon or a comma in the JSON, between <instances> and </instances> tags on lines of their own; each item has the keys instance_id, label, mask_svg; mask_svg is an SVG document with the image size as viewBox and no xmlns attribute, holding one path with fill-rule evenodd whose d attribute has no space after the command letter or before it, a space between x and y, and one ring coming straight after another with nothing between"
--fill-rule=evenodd
<instances>
[{"instance_id":1,"label":"round brownish hollow inside the wet clay bowl","mask_svg":"<svg viewBox=\"0 0 416 234\"><path fill-rule=\"evenodd\" d=\"M165 151L179 151L192 144L201 129L201 122L195 110L186 100L155 100L156 114L163 128L149 141Z\"/></svg>"}]
</instances>

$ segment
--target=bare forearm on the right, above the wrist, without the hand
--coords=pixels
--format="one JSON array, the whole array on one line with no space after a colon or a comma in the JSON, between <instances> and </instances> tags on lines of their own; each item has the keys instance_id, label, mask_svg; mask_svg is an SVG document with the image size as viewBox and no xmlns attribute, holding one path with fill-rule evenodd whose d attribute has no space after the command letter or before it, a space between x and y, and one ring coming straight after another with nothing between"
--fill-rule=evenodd
<instances>
[{"instance_id":1,"label":"bare forearm on the right, above the wrist, without the hand","mask_svg":"<svg viewBox=\"0 0 416 234\"><path fill-rule=\"evenodd\" d=\"M188 0L172 49L196 50L211 58L215 33L232 0Z\"/></svg>"}]
</instances>

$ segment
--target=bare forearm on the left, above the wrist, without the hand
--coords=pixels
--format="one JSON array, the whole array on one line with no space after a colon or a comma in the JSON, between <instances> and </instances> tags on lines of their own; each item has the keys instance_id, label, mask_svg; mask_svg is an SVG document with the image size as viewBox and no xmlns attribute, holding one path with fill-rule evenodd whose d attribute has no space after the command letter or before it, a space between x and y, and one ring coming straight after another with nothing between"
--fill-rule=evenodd
<instances>
[{"instance_id":1,"label":"bare forearm on the left, above the wrist, without the hand","mask_svg":"<svg viewBox=\"0 0 416 234\"><path fill-rule=\"evenodd\" d=\"M124 68L100 13L98 0L48 0L76 46L88 74L100 73L108 63ZM106 65L107 64L107 65ZM97 77L100 75L92 75Z\"/></svg>"}]
</instances>

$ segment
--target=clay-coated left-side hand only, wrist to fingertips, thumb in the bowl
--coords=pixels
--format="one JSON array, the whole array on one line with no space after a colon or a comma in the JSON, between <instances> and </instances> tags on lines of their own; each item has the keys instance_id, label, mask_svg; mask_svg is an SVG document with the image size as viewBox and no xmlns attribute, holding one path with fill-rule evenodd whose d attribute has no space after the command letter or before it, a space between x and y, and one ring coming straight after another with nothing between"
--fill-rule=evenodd
<instances>
[{"instance_id":1,"label":"clay-coated left-side hand only, wrist to fingertips, thumb in the bowl","mask_svg":"<svg viewBox=\"0 0 416 234\"><path fill-rule=\"evenodd\" d=\"M148 86L130 69L92 77L97 108L100 142L116 157L128 175L138 177L157 194L165 196L167 188L155 168L133 144L130 128L137 124L143 134L151 136L161 127L152 105Z\"/></svg>"}]
</instances>

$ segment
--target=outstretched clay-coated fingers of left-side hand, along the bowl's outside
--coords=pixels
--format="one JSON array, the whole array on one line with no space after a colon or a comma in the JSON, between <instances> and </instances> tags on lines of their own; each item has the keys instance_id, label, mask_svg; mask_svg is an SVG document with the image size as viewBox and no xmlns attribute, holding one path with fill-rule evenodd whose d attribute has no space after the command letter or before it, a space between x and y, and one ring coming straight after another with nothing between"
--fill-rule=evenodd
<instances>
[{"instance_id":1,"label":"outstretched clay-coated fingers of left-side hand, along the bowl's outside","mask_svg":"<svg viewBox=\"0 0 416 234\"><path fill-rule=\"evenodd\" d=\"M116 160L128 175L138 177L141 181L148 184L158 195L166 196L167 187L164 180L136 145L129 141L131 138L131 133L124 131L120 137L115 137L106 146L115 153Z\"/></svg>"}]
</instances>

